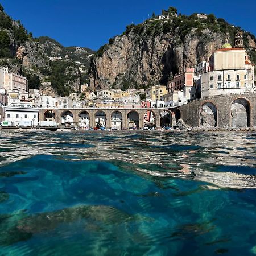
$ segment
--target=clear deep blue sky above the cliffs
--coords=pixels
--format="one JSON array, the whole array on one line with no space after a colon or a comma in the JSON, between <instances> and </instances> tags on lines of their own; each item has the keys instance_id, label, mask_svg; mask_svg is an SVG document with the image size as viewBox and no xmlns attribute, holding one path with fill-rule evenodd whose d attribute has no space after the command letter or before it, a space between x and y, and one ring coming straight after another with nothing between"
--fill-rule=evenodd
<instances>
[{"instance_id":1,"label":"clear deep blue sky above the cliffs","mask_svg":"<svg viewBox=\"0 0 256 256\"><path fill-rule=\"evenodd\" d=\"M1 0L7 14L21 20L34 36L49 36L64 46L97 50L128 24L143 22L174 6L178 13L214 13L256 35L256 1L238 0ZM244 2L245 3L245 2Z\"/></svg>"}]
</instances>

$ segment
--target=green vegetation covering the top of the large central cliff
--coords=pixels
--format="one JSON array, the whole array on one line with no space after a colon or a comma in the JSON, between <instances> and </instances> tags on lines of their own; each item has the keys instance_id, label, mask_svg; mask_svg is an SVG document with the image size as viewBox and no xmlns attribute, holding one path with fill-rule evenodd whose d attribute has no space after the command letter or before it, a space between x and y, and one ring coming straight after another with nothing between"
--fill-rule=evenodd
<instances>
[{"instance_id":1,"label":"green vegetation covering the top of the large central cliff","mask_svg":"<svg viewBox=\"0 0 256 256\"><path fill-rule=\"evenodd\" d=\"M130 24L126 27L126 31L123 32L123 35L129 35L130 32L133 32L137 35L137 40L141 40L149 37L156 37L161 34L171 33L175 35L175 42L177 45L184 42L185 37L192 32L196 31L198 35L201 35L203 30L209 29L212 32L220 33L225 38L225 35L229 36L230 43L234 45L234 35L237 30L240 30L240 27L234 27L226 22L225 19L216 18L214 14L208 14L206 17L201 18L204 14L197 15L196 13L187 16L187 15L174 15L177 14L177 9L175 7L169 7L168 10L162 10L162 15L169 16L170 18L159 20L155 14L152 15L152 18L146 20L142 24ZM250 36L256 42L256 38L250 32L245 32L245 38ZM102 46L95 56L102 57L106 49L113 44L115 38L109 39L109 44ZM246 39L245 39L246 42ZM251 50L249 44L245 43L245 48L250 55L251 60L256 63L256 53Z\"/></svg>"}]
</instances>

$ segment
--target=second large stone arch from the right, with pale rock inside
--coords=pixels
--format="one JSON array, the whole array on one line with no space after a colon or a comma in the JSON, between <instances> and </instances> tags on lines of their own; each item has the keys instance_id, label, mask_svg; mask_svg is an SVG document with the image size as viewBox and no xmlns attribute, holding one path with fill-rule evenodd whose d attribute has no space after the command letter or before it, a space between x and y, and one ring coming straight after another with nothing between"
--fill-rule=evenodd
<instances>
[{"instance_id":1,"label":"second large stone arch from the right, with pale rock inside","mask_svg":"<svg viewBox=\"0 0 256 256\"><path fill-rule=\"evenodd\" d=\"M199 110L200 125L218 126L218 110L212 102L205 102Z\"/></svg>"}]
</instances>

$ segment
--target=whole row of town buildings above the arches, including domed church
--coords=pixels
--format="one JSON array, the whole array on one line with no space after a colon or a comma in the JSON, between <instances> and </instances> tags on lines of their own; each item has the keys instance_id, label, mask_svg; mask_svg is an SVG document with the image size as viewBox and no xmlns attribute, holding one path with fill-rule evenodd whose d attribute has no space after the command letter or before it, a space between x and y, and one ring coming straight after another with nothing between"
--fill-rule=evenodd
<instances>
[{"instance_id":1,"label":"whole row of town buildings above the arches, including domed church","mask_svg":"<svg viewBox=\"0 0 256 256\"><path fill-rule=\"evenodd\" d=\"M37 123L39 109L171 108L197 98L250 93L255 90L254 69L255 65L243 48L242 31L235 36L234 48L226 39L222 48L209 55L207 60L196 67L186 67L183 73L172 77L167 86L155 85L146 91L100 89L92 92L85 84L81 86L79 96L71 93L69 97L51 97L42 95L39 90L28 89L26 77L0 67L0 106L5 106L5 120L0 118L0 121L10 121L13 125ZM118 113L116 118L119 118ZM84 117L83 120L87 119ZM154 113L147 111L144 121L153 123Z\"/></svg>"}]
</instances>

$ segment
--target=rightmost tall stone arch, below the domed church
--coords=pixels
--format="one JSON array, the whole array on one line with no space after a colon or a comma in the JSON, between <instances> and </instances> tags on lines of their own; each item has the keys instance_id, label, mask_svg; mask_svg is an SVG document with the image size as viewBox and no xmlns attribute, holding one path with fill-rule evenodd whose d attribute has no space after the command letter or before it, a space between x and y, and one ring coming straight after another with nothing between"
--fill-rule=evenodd
<instances>
[{"instance_id":1,"label":"rightmost tall stone arch, below the domed church","mask_svg":"<svg viewBox=\"0 0 256 256\"><path fill-rule=\"evenodd\" d=\"M249 127L251 125L251 106L245 98L237 98L231 105L231 127Z\"/></svg>"}]
</instances>

